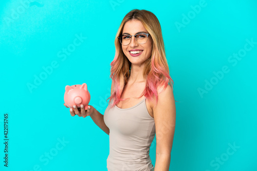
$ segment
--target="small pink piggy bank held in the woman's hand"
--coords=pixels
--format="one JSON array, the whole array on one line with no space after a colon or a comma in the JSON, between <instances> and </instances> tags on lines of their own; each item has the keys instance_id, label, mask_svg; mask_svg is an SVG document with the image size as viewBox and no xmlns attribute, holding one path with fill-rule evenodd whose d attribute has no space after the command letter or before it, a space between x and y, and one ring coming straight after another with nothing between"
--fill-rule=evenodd
<instances>
[{"instance_id":1,"label":"small pink piggy bank held in the woman's hand","mask_svg":"<svg viewBox=\"0 0 257 171\"><path fill-rule=\"evenodd\" d=\"M77 105L80 108L80 104L83 104L85 110L87 110L89 101L90 94L86 83L65 87L64 102L69 108L73 108L73 105Z\"/></svg>"}]
</instances>

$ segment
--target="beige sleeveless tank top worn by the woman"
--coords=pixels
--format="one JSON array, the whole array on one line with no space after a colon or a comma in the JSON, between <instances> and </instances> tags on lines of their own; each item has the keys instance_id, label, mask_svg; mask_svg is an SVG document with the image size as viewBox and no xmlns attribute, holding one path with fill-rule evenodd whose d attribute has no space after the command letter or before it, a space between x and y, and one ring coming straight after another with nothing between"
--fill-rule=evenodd
<instances>
[{"instance_id":1,"label":"beige sleeveless tank top worn by the woman","mask_svg":"<svg viewBox=\"0 0 257 171\"><path fill-rule=\"evenodd\" d=\"M110 131L108 171L154 170L149 151L155 137L155 122L145 100L127 109L107 106L103 119Z\"/></svg>"}]
</instances>

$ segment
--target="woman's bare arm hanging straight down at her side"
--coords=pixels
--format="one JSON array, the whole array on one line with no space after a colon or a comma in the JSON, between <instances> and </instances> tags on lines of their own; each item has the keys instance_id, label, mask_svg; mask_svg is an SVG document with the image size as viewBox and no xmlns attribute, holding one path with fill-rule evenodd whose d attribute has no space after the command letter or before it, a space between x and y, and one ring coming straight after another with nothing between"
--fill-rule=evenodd
<instances>
[{"instance_id":1,"label":"woman's bare arm hanging straight down at her side","mask_svg":"<svg viewBox=\"0 0 257 171\"><path fill-rule=\"evenodd\" d=\"M176 107L173 90L170 85L163 92L157 89L158 102L153 107L156 130L155 171L169 171L171 149L175 133Z\"/></svg>"}]
</instances>

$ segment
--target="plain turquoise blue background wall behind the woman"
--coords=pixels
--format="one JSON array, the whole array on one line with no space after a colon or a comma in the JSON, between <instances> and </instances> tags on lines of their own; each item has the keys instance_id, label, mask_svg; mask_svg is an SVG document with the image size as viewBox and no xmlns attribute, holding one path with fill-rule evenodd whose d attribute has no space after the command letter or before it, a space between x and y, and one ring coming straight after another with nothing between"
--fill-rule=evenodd
<instances>
[{"instance_id":1,"label":"plain turquoise blue background wall behind the woman","mask_svg":"<svg viewBox=\"0 0 257 171\"><path fill-rule=\"evenodd\" d=\"M107 170L108 135L90 117L71 117L63 96L66 85L85 82L89 105L104 113L116 32L136 8L159 19L179 101L170 170L257 170L256 7L253 0L1 1L1 170ZM153 164L155 149L156 139Z\"/></svg>"}]
</instances>

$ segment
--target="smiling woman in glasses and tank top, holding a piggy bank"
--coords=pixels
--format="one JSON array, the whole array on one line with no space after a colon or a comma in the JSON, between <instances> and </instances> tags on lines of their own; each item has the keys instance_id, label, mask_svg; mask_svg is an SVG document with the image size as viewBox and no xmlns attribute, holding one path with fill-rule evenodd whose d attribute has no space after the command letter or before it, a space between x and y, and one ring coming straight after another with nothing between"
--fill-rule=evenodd
<instances>
[{"instance_id":1,"label":"smiling woman in glasses and tank top, holding a piggy bank","mask_svg":"<svg viewBox=\"0 0 257 171\"><path fill-rule=\"evenodd\" d=\"M116 36L104 115L76 105L70 114L90 116L109 135L108 170L169 170L176 110L159 21L150 11L132 10ZM154 167L149 149L155 134Z\"/></svg>"}]
</instances>

